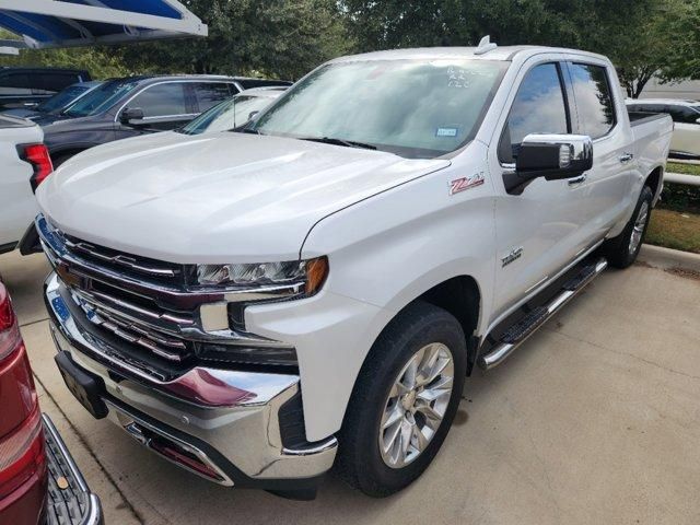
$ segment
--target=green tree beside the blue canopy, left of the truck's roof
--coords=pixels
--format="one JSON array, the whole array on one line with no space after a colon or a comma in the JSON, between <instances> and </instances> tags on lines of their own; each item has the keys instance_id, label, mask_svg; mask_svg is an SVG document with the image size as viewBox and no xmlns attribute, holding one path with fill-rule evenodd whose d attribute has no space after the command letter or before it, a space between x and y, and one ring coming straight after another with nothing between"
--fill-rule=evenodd
<instances>
[{"instance_id":1,"label":"green tree beside the blue canopy, left of the truck's roof","mask_svg":"<svg viewBox=\"0 0 700 525\"><path fill-rule=\"evenodd\" d=\"M189 0L209 37L124 47L147 72L298 79L351 48L334 0Z\"/></svg>"}]
</instances>

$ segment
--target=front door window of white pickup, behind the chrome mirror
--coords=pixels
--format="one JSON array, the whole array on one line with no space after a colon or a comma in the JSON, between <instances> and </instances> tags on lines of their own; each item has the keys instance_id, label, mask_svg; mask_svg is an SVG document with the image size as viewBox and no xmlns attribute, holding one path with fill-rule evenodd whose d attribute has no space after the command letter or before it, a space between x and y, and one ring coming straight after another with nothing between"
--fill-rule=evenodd
<instances>
[{"instance_id":1,"label":"front door window of white pickup, behind the chrome mirror","mask_svg":"<svg viewBox=\"0 0 700 525\"><path fill-rule=\"evenodd\" d=\"M512 163L523 139L530 133L569 133L564 92L556 63L542 63L523 79L503 136L499 160Z\"/></svg>"}]
</instances>

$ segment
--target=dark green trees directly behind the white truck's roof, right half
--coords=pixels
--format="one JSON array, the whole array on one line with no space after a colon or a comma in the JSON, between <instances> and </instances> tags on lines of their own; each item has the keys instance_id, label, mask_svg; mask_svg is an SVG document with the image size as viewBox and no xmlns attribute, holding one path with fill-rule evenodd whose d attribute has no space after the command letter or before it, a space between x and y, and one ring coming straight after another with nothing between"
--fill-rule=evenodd
<instances>
[{"instance_id":1,"label":"dark green trees directly behind the white truck's roof, right half","mask_svg":"<svg viewBox=\"0 0 700 525\"><path fill-rule=\"evenodd\" d=\"M366 50L474 45L487 34L501 45L574 47L610 57L633 97L654 74L667 80L692 71L700 75L698 0L346 0L342 4L350 31ZM669 20L672 28L664 28ZM696 35L692 43L685 39L689 34ZM679 39L684 45L678 46ZM668 58L674 48L680 56L672 70Z\"/></svg>"}]
</instances>

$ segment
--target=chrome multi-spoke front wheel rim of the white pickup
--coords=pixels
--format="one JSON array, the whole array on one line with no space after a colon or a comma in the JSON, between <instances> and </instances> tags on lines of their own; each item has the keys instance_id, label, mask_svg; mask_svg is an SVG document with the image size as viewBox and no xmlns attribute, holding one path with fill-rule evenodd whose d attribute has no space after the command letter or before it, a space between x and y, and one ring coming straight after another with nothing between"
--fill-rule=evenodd
<instances>
[{"instance_id":1,"label":"chrome multi-spoke front wheel rim of the white pickup","mask_svg":"<svg viewBox=\"0 0 700 525\"><path fill-rule=\"evenodd\" d=\"M382 459L392 468L413 462L440 428L454 385L450 349L433 342L416 352L399 372L380 425Z\"/></svg>"}]
</instances>

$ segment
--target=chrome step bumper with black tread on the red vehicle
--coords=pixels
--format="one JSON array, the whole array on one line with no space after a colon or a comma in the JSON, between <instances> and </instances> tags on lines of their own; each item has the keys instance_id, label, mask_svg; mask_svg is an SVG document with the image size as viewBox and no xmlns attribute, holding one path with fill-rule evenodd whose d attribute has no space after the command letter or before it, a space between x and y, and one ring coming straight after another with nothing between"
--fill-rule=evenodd
<instances>
[{"instance_id":1,"label":"chrome step bumper with black tread on the red vehicle","mask_svg":"<svg viewBox=\"0 0 700 525\"><path fill-rule=\"evenodd\" d=\"M42 419L48 459L47 525L101 525L100 499L88 488L50 418Z\"/></svg>"}]
</instances>

